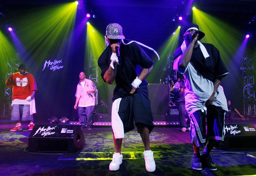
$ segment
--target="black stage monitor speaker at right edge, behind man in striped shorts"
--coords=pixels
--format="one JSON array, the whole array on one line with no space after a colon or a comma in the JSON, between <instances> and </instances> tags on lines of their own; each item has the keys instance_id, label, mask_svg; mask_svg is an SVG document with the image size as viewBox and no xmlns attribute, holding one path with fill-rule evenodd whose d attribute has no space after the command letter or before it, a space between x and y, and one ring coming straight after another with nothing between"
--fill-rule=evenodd
<instances>
[{"instance_id":1,"label":"black stage monitor speaker at right edge, behind man in striped shorts","mask_svg":"<svg viewBox=\"0 0 256 176\"><path fill-rule=\"evenodd\" d=\"M253 123L228 123L221 150L256 149L256 128Z\"/></svg>"}]
</instances>

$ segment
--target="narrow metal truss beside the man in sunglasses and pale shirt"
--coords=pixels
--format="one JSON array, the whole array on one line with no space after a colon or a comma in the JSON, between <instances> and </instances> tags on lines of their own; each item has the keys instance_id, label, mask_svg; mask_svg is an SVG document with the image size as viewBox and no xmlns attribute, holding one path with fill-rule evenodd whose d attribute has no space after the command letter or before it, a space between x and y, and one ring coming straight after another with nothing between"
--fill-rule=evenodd
<instances>
[{"instance_id":1,"label":"narrow metal truss beside the man in sunglasses and pale shirt","mask_svg":"<svg viewBox=\"0 0 256 176\"><path fill-rule=\"evenodd\" d=\"M89 62L89 68L90 68L90 75L89 75L89 79L92 80L94 82L94 84L96 86L98 86L98 76L99 76L99 72L98 72L98 64L97 64L97 59L93 59L93 54L92 52L90 52L90 62ZM97 92L95 94L95 105L98 104L98 89Z\"/></svg>"}]
</instances>

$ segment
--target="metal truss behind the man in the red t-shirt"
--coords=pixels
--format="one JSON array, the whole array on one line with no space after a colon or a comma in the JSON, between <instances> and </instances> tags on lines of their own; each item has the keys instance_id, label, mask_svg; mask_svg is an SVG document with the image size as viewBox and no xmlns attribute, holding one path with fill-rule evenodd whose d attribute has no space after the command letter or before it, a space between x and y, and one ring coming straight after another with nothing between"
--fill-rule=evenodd
<instances>
[{"instance_id":1,"label":"metal truss behind the man in the red t-shirt","mask_svg":"<svg viewBox=\"0 0 256 176\"><path fill-rule=\"evenodd\" d=\"M18 64L20 63L20 55L16 54L16 56L17 58L11 58L7 60L6 67L8 68L8 73L5 75L5 80L7 80L9 74L17 72ZM12 115L12 88L5 88L3 115Z\"/></svg>"}]
</instances>

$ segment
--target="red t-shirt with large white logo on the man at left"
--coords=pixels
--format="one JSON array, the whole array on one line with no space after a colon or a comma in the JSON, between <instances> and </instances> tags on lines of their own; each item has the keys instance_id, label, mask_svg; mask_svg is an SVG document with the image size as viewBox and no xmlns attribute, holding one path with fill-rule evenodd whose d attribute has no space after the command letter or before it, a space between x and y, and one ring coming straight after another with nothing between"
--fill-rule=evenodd
<instances>
[{"instance_id":1,"label":"red t-shirt with large white logo on the man at left","mask_svg":"<svg viewBox=\"0 0 256 176\"><path fill-rule=\"evenodd\" d=\"M14 85L11 79L10 86L6 85L7 88L12 87L12 100L26 100L26 98L32 94L33 90L37 90L36 80L34 79L34 76L28 72L23 75L21 75L20 72L13 73L12 79Z\"/></svg>"}]
</instances>

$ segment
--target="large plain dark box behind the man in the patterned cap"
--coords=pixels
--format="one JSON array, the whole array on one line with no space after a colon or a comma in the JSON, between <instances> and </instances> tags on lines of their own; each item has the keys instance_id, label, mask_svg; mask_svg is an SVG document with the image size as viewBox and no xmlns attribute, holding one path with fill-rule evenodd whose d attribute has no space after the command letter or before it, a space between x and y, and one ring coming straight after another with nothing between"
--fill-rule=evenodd
<instances>
[{"instance_id":1,"label":"large plain dark box behind the man in the patterned cap","mask_svg":"<svg viewBox=\"0 0 256 176\"><path fill-rule=\"evenodd\" d=\"M112 111L112 98L116 85L108 85L108 114ZM170 90L167 84L148 83L148 98L154 115L168 113Z\"/></svg>"}]
</instances>

